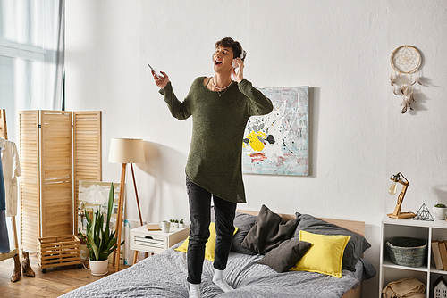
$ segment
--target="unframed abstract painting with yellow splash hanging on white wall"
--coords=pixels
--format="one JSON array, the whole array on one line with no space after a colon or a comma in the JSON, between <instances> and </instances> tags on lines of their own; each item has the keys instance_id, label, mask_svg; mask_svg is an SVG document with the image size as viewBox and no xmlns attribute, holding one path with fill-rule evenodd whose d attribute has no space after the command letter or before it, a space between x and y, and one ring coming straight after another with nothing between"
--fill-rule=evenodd
<instances>
[{"instance_id":1,"label":"unframed abstract painting with yellow splash hanging on white wall","mask_svg":"<svg viewBox=\"0 0 447 298\"><path fill-rule=\"evenodd\" d=\"M242 171L308 176L308 86L259 88L274 111L250 117L244 133Z\"/></svg>"}]
</instances>

